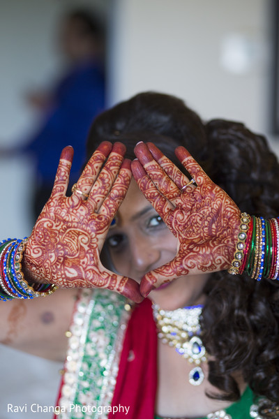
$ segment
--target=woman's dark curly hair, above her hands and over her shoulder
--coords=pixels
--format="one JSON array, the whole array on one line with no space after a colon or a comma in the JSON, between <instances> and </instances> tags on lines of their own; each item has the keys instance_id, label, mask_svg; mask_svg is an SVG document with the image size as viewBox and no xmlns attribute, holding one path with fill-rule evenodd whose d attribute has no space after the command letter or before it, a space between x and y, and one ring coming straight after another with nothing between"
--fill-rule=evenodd
<instances>
[{"instance_id":1,"label":"woman's dark curly hair, above her hands and over her shoulder","mask_svg":"<svg viewBox=\"0 0 279 419\"><path fill-rule=\"evenodd\" d=\"M183 145L241 211L266 219L279 214L279 164L262 135L239 122L204 123L179 98L146 92L99 115L89 133L87 155L103 140L122 141L126 156L140 140L151 141L181 168L174 148ZM185 170L184 170L185 171ZM209 381L222 390L210 397L235 401L241 372L255 395L279 401L279 288L247 274L210 275L202 315L203 341L213 355ZM272 409L272 406L269 406Z\"/></svg>"}]
</instances>

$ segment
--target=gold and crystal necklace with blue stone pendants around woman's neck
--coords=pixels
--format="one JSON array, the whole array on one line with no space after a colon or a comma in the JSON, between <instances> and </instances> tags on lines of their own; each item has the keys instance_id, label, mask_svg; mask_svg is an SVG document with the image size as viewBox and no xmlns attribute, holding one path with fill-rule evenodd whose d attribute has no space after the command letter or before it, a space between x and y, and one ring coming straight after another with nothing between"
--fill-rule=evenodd
<instances>
[{"instance_id":1,"label":"gold and crystal necklace with blue stone pendants around woman's neck","mask_svg":"<svg viewBox=\"0 0 279 419\"><path fill-rule=\"evenodd\" d=\"M157 304L152 305L153 317L156 321L158 337L164 344L176 349L176 352L194 363L189 373L189 383L199 385L204 381L204 372L200 365L207 361L206 349L199 337L201 327L199 316L202 305L183 307L176 310L163 310Z\"/></svg>"}]
</instances>

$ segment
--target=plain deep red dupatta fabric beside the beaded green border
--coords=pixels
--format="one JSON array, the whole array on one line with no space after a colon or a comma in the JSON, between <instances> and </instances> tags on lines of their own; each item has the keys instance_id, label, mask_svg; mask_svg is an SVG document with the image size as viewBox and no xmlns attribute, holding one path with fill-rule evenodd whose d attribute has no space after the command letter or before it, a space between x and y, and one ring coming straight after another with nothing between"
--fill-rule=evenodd
<instances>
[{"instance_id":1,"label":"plain deep red dupatta fabric beside the beaded green border","mask_svg":"<svg viewBox=\"0 0 279 419\"><path fill-rule=\"evenodd\" d=\"M157 335L150 300L135 307L128 322L112 406L127 411L109 419L153 419L157 388Z\"/></svg>"}]
</instances>

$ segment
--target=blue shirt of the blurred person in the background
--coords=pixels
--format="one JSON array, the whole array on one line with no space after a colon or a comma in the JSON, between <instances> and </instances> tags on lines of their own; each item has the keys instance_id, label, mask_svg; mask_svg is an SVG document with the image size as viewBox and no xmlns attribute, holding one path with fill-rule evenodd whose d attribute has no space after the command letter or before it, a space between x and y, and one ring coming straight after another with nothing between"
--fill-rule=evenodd
<instances>
[{"instance_id":1,"label":"blue shirt of the blurred person in the background","mask_svg":"<svg viewBox=\"0 0 279 419\"><path fill-rule=\"evenodd\" d=\"M42 184L52 185L61 150L74 148L72 183L80 175L85 161L86 137L93 119L105 108L105 77L93 62L80 64L66 75L54 91L54 106L45 117L40 131L23 147L36 159Z\"/></svg>"}]
</instances>

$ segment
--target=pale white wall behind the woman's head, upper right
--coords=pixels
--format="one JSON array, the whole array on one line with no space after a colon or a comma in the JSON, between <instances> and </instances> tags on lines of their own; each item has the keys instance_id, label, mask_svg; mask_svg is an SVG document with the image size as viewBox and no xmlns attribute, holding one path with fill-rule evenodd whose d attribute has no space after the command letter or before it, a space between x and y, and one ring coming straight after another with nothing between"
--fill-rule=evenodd
<instances>
[{"instance_id":1,"label":"pale white wall behind the woman's head, upper right","mask_svg":"<svg viewBox=\"0 0 279 419\"><path fill-rule=\"evenodd\" d=\"M269 22L266 0L119 0L112 101L148 89L180 96L204 118L266 128ZM220 60L237 34L247 48L241 74ZM249 63L248 63L249 64Z\"/></svg>"}]
</instances>

